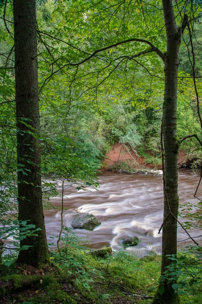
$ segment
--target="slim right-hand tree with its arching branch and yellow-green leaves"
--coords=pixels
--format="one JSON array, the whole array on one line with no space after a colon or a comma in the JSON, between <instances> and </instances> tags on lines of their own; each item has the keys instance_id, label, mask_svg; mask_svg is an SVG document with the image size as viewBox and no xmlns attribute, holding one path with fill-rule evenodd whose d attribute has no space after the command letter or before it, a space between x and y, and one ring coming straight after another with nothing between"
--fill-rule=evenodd
<instances>
[{"instance_id":1,"label":"slim right-hand tree with its arching branch and yellow-green leaves","mask_svg":"<svg viewBox=\"0 0 202 304\"><path fill-rule=\"evenodd\" d=\"M55 30L53 34L43 33L43 35L49 37L49 40L60 39L62 42L66 29L71 28L70 22L73 22L74 28L76 28L76 25L79 26L79 32L73 34L73 45L67 40L63 41L64 46L68 44L69 47L64 47L63 56L57 62L59 66L56 66L54 72L46 75L43 86L52 79L56 79L57 73L60 73L63 77L63 73L67 74L72 67L75 67L74 77L69 80L69 87L72 92L73 87L78 88L78 84L83 82L84 85L85 83L88 84L86 91L89 91L89 88L91 90L95 89L97 96L100 86L106 80L110 78L115 84L116 81L123 79L120 74L126 75L128 71L127 75L130 75L131 70L134 72L137 65L147 70L151 77L156 76L160 79L162 79L160 70L163 71L164 68L165 90L162 121L164 166L163 274L170 263L167 255L177 253L177 168L180 146L180 140L177 138L179 48L184 29L195 20L199 6L196 5L194 11L192 2L183 1L174 4L171 0L162 0L161 2L138 1L132 5L129 1L119 4L114 1L110 3L105 1L99 3L77 1L73 5L69 4L67 7L65 5L65 1L60 2L60 8L57 8L57 14L62 10L62 15L70 17L64 32L58 32L59 35L57 35L57 30ZM70 12L72 13L71 16ZM80 12L82 13L80 14ZM188 15L191 16L189 20ZM63 18L60 20L62 24ZM72 55L73 49L74 53L77 54L77 60L75 60L75 54ZM158 55L159 59L154 54ZM69 61L66 58L69 58ZM66 82L67 84L68 82ZM83 85L81 87L85 88ZM75 98L78 98L77 96L78 90ZM163 301L168 303L178 302L178 296L172 288L172 283L166 280L161 282L159 296L156 297L155 303L162 303Z\"/></svg>"}]
</instances>

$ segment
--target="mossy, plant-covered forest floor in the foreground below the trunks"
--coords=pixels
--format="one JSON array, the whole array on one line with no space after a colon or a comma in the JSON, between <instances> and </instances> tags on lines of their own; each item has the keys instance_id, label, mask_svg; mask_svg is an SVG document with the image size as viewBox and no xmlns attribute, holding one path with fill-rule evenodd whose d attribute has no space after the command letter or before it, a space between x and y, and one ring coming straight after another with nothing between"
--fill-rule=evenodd
<instances>
[{"instance_id":1,"label":"mossy, plant-covered forest floor in the foreground below the trunks","mask_svg":"<svg viewBox=\"0 0 202 304\"><path fill-rule=\"evenodd\" d=\"M0 304L149 304L159 284L161 256L138 258L125 250L97 257L78 244L51 253L41 269L3 267ZM202 285L195 294L180 295L182 304L201 304Z\"/></svg>"}]
</instances>

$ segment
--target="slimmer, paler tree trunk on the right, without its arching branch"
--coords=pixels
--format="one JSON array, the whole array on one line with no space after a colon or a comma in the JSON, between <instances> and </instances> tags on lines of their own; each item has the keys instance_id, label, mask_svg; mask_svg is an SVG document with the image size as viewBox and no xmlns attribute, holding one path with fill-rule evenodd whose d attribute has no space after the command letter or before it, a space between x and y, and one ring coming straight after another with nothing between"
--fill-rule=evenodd
<instances>
[{"instance_id":1,"label":"slimmer, paler tree trunk on the right, without its arching branch","mask_svg":"<svg viewBox=\"0 0 202 304\"><path fill-rule=\"evenodd\" d=\"M177 254L177 216L178 216L178 148L177 140L177 85L178 56L181 29L176 25L171 0L163 0L164 19L167 34L165 57L165 95L163 104L163 142L164 142L164 225L162 235L163 274L171 260L166 255ZM163 282L165 291L158 294L155 303L178 303L172 283Z\"/></svg>"}]
</instances>

